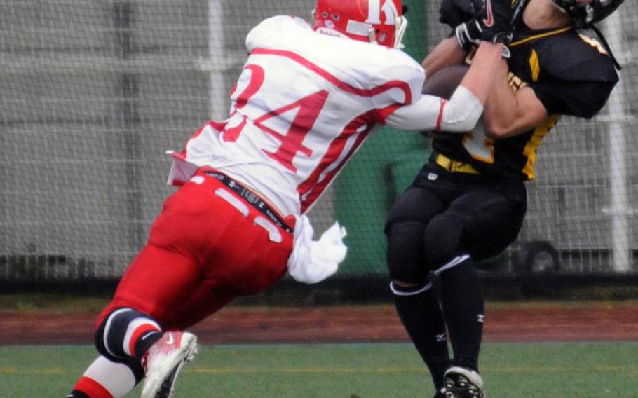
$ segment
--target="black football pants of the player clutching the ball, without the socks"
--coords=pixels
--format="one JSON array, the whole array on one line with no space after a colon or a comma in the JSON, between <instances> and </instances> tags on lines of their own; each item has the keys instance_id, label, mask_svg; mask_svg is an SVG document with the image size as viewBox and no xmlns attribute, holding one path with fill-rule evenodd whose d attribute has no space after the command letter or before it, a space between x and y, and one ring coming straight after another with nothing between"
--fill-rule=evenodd
<instances>
[{"instance_id":1,"label":"black football pants of the player clutching the ball, without the socks","mask_svg":"<svg viewBox=\"0 0 638 398\"><path fill-rule=\"evenodd\" d=\"M386 220L391 279L423 284L430 271L459 254L475 261L495 256L516 239L526 210L522 181L494 181L428 163Z\"/></svg>"}]
</instances>

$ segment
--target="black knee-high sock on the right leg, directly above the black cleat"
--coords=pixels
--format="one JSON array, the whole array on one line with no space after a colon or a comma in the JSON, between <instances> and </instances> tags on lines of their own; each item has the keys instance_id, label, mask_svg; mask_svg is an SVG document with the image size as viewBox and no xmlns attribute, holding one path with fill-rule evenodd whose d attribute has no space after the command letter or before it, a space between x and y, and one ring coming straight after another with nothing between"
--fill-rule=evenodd
<instances>
[{"instance_id":1,"label":"black knee-high sock on the right leg, directly above the black cleat","mask_svg":"<svg viewBox=\"0 0 638 398\"><path fill-rule=\"evenodd\" d=\"M441 304L454 351L452 362L478 371L485 306L474 262L468 257L440 277Z\"/></svg>"}]
</instances>

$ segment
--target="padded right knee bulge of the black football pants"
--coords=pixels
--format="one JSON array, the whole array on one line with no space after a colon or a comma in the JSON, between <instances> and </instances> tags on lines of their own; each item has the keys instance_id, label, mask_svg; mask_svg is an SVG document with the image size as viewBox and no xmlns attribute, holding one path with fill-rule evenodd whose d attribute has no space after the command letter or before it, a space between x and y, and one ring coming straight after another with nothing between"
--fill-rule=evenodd
<instances>
[{"instance_id":1,"label":"padded right knee bulge of the black football pants","mask_svg":"<svg viewBox=\"0 0 638 398\"><path fill-rule=\"evenodd\" d=\"M434 217L423 231L423 256L431 270L466 252L462 245L466 219L443 213Z\"/></svg>"}]
</instances>

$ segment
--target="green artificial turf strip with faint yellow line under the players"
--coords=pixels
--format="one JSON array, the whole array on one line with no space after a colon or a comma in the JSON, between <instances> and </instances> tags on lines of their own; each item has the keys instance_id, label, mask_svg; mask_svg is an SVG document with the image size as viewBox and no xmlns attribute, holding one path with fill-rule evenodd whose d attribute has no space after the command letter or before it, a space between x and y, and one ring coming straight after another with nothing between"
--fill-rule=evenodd
<instances>
[{"instance_id":1,"label":"green artificial turf strip with faint yellow line under the players","mask_svg":"<svg viewBox=\"0 0 638 398\"><path fill-rule=\"evenodd\" d=\"M65 397L89 346L0 347L1 397ZM489 398L638 397L637 343L487 343ZM203 345L175 398L430 398L412 345ZM138 397L139 391L130 394Z\"/></svg>"}]
</instances>

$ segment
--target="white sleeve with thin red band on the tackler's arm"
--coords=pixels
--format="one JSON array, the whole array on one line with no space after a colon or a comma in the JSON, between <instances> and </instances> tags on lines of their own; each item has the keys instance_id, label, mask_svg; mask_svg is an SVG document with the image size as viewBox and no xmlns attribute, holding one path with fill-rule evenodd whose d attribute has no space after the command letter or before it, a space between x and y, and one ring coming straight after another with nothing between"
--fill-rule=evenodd
<instances>
[{"instance_id":1,"label":"white sleeve with thin red band on the tackler's arm","mask_svg":"<svg viewBox=\"0 0 638 398\"><path fill-rule=\"evenodd\" d=\"M421 95L414 104L393 111L386 125L400 130L468 132L483 113L483 106L467 88L459 85L447 101L433 95Z\"/></svg>"}]
</instances>

